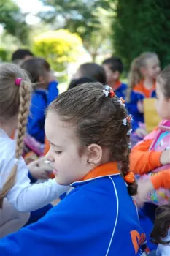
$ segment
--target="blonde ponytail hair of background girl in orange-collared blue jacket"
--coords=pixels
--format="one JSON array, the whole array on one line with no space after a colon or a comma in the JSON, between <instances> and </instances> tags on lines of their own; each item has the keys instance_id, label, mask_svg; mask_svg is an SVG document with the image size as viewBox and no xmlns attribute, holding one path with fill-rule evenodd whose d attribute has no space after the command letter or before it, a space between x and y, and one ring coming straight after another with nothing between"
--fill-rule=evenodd
<instances>
[{"instance_id":1,"label":"blonde ponytail hair of background girl in orange-collared blue jacket","mask_svg":"<svg viewBox=\"0 0 170 256\"><path fill-rule=\"evenodd\" d=\"M131 90L136 86L137 83L142 80L141 68L146 67L147 59L152 59L153 57L157 57L156 53L142 53L139 55L134 61L131 63L131 69L128 75L128 91L127 91L127 100L129 101Z\"/></svg>"}]
</instances>

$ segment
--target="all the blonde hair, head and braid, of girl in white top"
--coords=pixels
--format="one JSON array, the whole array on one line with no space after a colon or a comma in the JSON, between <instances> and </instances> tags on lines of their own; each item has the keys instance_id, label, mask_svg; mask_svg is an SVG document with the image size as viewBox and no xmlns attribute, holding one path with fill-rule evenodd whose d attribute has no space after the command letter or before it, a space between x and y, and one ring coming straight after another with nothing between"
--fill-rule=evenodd
<instances>
[{"instance_id":1,"label":"all the blonde hair, head and braid, of girl in white top","mask_svg":"<svg viewBox=\"0 0 170 256\"><path fill-rule=\"evenodd\" d=\"M23 78L20 86L15 85L16 78ZM15 158L19 159L23 153L23 138L26 132L26 123L31 99L31 83L26 72L15 64L0 65L0 118L12 118L18 114L18 137L15 149ZM11 173L4 183L0 193L0 208L3 198L15 184L17 164L12 167Z\"/></svg>"}]
</instances>

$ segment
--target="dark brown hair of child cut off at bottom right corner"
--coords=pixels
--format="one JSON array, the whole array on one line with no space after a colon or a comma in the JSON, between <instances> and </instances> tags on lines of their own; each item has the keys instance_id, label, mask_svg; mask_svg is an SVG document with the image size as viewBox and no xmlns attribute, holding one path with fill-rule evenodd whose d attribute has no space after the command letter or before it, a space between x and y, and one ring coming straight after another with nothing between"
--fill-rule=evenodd
<instances>
[{"instance_id":1,"label":"dark brown hair of child cut off at bottom right corner","mask_svg":"<svg viewBox=\"0 0 170 256\"><path fill-rule=\"evenodd\" d=\"M155 211L155 225L150 237L154 243L169 244L170 241L163 241L168 234L170 226L170 206L160 206Z\"/></svg>"}]
</instances>

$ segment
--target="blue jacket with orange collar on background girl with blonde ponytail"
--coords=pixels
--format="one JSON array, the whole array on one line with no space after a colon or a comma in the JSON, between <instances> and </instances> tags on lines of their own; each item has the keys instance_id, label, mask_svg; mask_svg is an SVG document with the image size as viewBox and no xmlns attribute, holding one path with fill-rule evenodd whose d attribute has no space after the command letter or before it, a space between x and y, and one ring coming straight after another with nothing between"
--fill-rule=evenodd
<instances>
[{"instance_id":1,"label":"blue jacket with orange collar on background girl with blonde ponytail","mask_svg":"<svg viewBox=\"0 0 170 256\"><path fill-rule=\"evenodd\" d=\"M143 101L144 98L154 98L155 96L155 89L150 90L150 94L148 94L148 92L146 94L146 89L144 89L142 81L134 87L133 91L131 91L130 102L126 106L128 108L128 113L133 117L133 130L139 127L139 122L144 123L144 113L139 113L137 102Z\"/></svg>"}]
</instances>

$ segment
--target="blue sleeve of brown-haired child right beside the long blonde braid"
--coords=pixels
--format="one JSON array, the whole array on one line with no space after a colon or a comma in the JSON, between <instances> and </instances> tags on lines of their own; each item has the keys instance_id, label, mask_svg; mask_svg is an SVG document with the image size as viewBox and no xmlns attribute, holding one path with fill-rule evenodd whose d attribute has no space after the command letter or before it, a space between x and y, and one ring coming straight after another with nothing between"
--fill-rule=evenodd
<instances>
[{"instance_id":1,"label":"blue sleeve of brown-haired child right beside the long blonde braid","mask_svg":"<svg viewBox=\"0 0 170 256\"><path fill-rule=\"evenodd\" d=\"M40 95L34 94L31 99L27 132L40 143L45 143L45 108L45 99Z\"/></svg>"}]
</instances>

